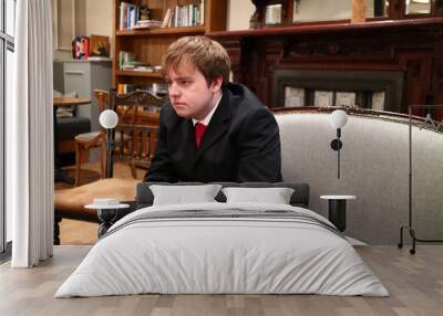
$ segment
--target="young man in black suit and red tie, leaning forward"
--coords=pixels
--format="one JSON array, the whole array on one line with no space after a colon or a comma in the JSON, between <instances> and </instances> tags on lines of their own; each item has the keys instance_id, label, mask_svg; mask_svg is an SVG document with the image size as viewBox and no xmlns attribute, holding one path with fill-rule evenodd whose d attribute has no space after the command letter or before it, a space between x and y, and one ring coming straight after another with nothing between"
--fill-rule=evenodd
<instances>
[{"instance_id":1,"label":"young man in black suit and red tie, leaning forward","mask_svg":"<svg viewBox=\"0 0 443 316\"><path fill-rule=\"evenodd\" d=\"M208 38L168 48L169 102L145 181L281 181L276 119L246 86L229 83L229 71L226 50Z\"/></svg>"}]
</instances>

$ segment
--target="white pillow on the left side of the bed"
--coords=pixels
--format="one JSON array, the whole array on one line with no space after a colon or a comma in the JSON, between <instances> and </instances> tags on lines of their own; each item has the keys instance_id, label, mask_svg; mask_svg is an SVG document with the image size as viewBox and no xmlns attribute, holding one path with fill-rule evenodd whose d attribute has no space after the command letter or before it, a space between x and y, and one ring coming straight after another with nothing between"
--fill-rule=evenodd
<instances>
[{"instance_id":1,"label":"white pillow on the left side of the bed","mask_svg":"<svg viewBox=\"0 0 443 316\"><path fill-rule=\"evenodd\" d=\"M216 202L214 198L220 188L220 185L150 186L154 194L153 206Z\"/></svg>"}]
</instances>

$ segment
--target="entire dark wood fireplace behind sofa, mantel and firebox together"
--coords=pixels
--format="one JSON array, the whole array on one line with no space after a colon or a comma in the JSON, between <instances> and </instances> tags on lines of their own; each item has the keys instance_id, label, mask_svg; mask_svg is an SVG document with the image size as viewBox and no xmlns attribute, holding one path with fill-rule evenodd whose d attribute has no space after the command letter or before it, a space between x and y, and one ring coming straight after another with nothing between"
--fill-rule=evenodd
<instances>
[{"instance_id":1,"label":"entire dark wood fireplace behind sofa, mantel and firebox together","mask_svg":"<svg viewBox=\"0 0 443 316\"><path fill-rule=\"evenodd\" d=\"M323 103L331 97L337 105L343 97L352 99L352 94L338 98L340 92L356 93L359 106L380 108L381 102L383 109L400 113L408 113L409 105L443 104L443 18L209 35L227 49L234 80L248 85L269 107L288 105L290 87L305 92L308 106L318 104L319 97Z\"/></svg>"}]
</instances>

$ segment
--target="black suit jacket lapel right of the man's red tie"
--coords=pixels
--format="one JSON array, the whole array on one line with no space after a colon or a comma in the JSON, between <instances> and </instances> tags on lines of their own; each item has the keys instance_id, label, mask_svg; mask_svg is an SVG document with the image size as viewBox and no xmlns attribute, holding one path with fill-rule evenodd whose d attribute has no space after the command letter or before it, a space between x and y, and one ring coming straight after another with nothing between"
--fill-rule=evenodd
<instances>
[{"instance_id":1,"label":"black suit jacket lapel right of the man's red tie","mask_svg":"<svg viewBox=\"0 0 443 316\"><path fill-rule=\"evenodd\" d=\"M195 157L194 165L198 161L202 155L229 128L230 119L230 96L229 91L224 89L220 103L210 118L209 125L206 127L205 134L200 143L200 147L197 149L197 156ZM194 135L194 133L193 133ZM195 148L195 145L194 145Z\"/></svg>"}]
</instances>

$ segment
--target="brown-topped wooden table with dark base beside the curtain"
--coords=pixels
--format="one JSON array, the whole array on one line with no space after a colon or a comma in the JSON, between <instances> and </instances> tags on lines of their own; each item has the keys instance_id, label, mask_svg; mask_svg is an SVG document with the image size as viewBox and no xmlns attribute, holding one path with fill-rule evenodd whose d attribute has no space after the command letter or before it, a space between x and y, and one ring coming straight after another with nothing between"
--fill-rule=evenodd
<instances>
[{"instance_id":1,"label":"brown-topped wooden table with dark base beside the curtain","mask_svg":"<svg viewBox=\"0 0 443 316\"><path fill-rule=\"evenodd\" d=\"M59 129L56 126L56 109L59 107L70 107L91 104L91 98L87 97L54 97L53 98L53 124L54 124L54 181L63 181L74 185L74 178L68 176L60 166L59 156Z\"/></svg>"}]
</instances>

